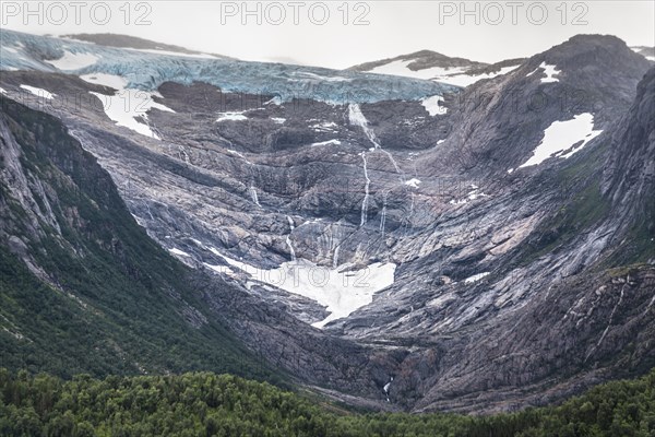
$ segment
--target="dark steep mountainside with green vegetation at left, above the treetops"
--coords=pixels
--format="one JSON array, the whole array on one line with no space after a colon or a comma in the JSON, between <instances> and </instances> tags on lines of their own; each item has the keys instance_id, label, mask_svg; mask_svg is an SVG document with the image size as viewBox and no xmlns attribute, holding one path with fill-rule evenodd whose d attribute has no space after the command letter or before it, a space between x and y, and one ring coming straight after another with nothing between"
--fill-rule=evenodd
<instances>
[{"instance_id":1,"label":"dark steep mountainside with green vegetation at left, above the treetops","mask_svg":"<svg viewBox=\"0 0 655 437\"><path fill-rule=\"evenodd\" d=\"M211 370L279 380L205 308L199 273L147 236L59 120L0 103L35 209L51 210L59 227L33 223L17 200L25 193L0 179L0 366L62 377ZM1 140L9 147L11 139ZM17 163L0 169L10 164Z\"/></svg>"}]
</instances>

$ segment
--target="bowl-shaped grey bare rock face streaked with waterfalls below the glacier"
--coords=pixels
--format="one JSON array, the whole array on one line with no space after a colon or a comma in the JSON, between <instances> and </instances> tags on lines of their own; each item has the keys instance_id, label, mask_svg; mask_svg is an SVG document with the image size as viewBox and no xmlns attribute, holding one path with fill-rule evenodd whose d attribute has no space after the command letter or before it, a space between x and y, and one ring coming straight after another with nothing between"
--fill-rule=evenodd
<instances>
[{"instance_id":1,"label":"bowl-shaped grey bare rock face streaked with waterfalls below the glacier","mask_svg":"<svg viewBox=\"0 0 655 437\"><path fill-rule=\"evenodd\" d=\"M143 119L155 135L117 126L90 94L111 92L74 74L0 85L29 106L24 83L91 96L44 109L152 238L213 277L194 280L212 315L273 365L362 405L491 412L655 364L647 70L617 38L577 36L444 91L437 111L168 81ZM584 115L590 132L524 166Z\"/></svg>"}]
</instances>

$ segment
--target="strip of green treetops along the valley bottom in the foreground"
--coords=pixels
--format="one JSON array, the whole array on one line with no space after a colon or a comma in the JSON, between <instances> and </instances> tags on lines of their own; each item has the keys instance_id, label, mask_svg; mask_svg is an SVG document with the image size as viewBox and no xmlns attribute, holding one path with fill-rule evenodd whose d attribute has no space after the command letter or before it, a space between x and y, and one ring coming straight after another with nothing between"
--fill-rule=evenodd
<instances>
[{"instance_id":1,"label":"strip of green treetops along the valley bottom in the foreground","mask_svg":"<svg viewBox=\"0 0 655 437\"><path fill-rule=\"evenodd\" d=\"M79 375L0 369L2 436L654 436L655 370L560 406L495 416L327 411L267 383L209 373Z\"/></svg>"}]
</instances>

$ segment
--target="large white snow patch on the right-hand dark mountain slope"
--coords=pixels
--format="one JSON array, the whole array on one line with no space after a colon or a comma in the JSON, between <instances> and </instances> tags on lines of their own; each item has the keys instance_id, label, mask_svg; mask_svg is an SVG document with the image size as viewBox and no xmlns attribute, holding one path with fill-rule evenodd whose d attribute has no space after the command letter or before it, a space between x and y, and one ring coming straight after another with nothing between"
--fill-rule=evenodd
<instances>
[{"instance_id":1,"label":"large white snow patch on the right-hand dark mountain slope","mask_svg":"<svg viewBox=\"0 0 655 437\"><path fill-rule=\"evenodd\" d=\"M594 116L590 113L576 115L571 120L553 121L544 131L544 139L533 152L533 156L519 168L541 164L551 156L563 158L573 156L602 132L602 130L594 130ZM575 144L579 145L571 149ZM570 151L564 153L568 150Z\"/></svg>"}]
</instances>

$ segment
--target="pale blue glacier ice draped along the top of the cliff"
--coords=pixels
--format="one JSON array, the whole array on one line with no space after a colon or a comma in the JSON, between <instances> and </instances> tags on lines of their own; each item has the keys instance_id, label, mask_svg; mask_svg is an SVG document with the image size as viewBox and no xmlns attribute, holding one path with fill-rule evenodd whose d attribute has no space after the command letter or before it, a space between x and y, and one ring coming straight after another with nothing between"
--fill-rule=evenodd
<instances>
[{"instance_id":1,"label":"pale blue glacier ice draped along the top of the cliff","mask_svg":"<svg viewBox=\"0 0 655 437\"><path fill-rule=\"evenodd\" d=\"M107 73L128 80L128 87L154 91L164 82L205 82L224 92L275 95L282 101L311 98L334 104L417 101L457 92L458 87L409 78L317 67L144 52L73 39L0 31L0 70L36 70L75 75ZM47 60L66 52L93 55L97 61L72 71Z\"/></svg>"}]
</instances>

